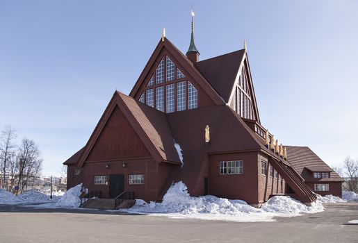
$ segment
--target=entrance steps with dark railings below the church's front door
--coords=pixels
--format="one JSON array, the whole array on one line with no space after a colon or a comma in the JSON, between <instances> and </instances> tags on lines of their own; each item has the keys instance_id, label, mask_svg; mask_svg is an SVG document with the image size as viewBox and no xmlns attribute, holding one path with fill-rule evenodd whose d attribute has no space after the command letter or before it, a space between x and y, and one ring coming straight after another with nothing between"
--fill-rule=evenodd
<instances>
[{"instance_id":1,"label":"entrance steps with dark railings below the church's front door","mask_svg":"<svg viewBox=\"0 0 358 243\"><path fill-rule=\"evenodd\" d=\"M89 199L83 203L81 208L94 208L99 210L115 210L120 208L131 208L136 203L136 200L126 199L115 208L114 199Z\"/></svg>"}]
</instances>

